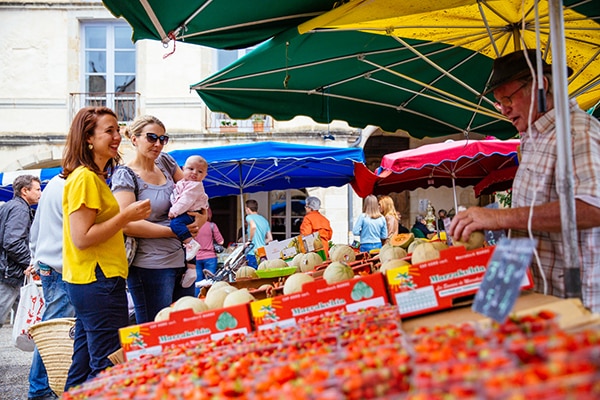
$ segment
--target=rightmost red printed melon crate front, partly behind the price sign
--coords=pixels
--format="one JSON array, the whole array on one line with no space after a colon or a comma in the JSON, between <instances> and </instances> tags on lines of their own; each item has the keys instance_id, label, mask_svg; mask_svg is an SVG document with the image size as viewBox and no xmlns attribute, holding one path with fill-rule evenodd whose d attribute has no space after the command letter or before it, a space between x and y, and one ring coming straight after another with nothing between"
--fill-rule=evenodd
<instances>
[{"instance_id":1,"label":"rightmost red printed melon crate front, partly behind the price sign","mask_svg":"<svg viewBox=\"0 0 600 400\"><path fill-rule=\"evenodd\" d=\"M439 259L386 271L392 303L404 317L452 307L454 299L477 292L494 250L450 247ZM523 288L532 287L527 278Z\"/></svg>"}]
</instances>

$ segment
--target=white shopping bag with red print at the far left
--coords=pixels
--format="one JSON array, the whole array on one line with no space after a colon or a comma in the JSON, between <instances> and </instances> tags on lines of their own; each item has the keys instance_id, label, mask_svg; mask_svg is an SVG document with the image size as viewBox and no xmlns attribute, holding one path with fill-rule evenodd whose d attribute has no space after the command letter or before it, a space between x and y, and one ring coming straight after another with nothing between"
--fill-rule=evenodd
<instances>
[{"instance_id":1,"label":"white shopping bag with red print at the far left","mask_svg":"<svg viewBox=\"0 0 600 400\"><path fill-rule=\"evenodd\" d=\"M13 325L12 341L16 348L33 351L35 343L29 334L29 327L42 320L45 309L46 303L42 291L31 276L25 276Z\"/></svg>"}]
</instances>

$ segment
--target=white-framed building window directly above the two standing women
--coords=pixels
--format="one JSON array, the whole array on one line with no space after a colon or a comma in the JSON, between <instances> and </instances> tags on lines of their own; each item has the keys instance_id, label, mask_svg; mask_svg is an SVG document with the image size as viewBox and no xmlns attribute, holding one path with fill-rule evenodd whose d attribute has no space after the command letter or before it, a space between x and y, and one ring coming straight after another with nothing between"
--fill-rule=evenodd
<instances>
[{"instance_id":1,"label":"white-framed building window directly above the two standing women","mask_svg":"<svg viewBox=\"0 0 600 400\"><path fill-rule=\"evenodd\" d=\"M107 106L120 121L131 121L136 114L136 54L131 27L90 22L82 28L85 105Z\"/></svg>"}]
</instances>

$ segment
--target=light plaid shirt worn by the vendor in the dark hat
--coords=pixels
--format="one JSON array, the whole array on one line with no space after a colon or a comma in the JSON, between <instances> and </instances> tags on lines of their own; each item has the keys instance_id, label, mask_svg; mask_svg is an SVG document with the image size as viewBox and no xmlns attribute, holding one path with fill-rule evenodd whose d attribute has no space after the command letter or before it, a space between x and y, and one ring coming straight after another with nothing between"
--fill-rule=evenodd
<instances>
[{"instance_id":1,"label":"light plaid shirt worn by the vendor in the dark hat","mask_svg":"<svg viewBox=\"0 0 600 400\"><path fill-rule=\"evenodd\" d=\"M571 141L575 198L600 207L600 123L570 102ZM523 133L521 162L513 183L512 206L530 207L558 201L556 152L556 112L548 111L534 122L531 135ZM527 236L514 231L513 236ZM533 231L547 294L565 297L562 233ZM600 227L579 230L579 260L582 298L586 307L600 312ZM535 290L544 291L540 269L534 258L532 272Z\"/></svg>"}]
</instances>

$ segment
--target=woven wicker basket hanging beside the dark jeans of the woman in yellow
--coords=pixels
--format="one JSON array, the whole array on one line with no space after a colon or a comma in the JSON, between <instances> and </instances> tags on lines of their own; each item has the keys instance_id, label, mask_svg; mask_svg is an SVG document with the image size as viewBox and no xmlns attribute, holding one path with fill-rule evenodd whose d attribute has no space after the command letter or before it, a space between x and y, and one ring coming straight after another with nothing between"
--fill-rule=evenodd
<instances>
[{"instance_id":1,"label":"woven wicker basket hanging beside the dark jeans of the woman in yellow","mask_svg":"<svg viewBox=\"0 0 600 400\"><path fill-rule=\"evenodd\" d=\"M48 372L50 388L59 397L65 389L73 356L75 318L57 318L39 322L29 328L29 334L40 352Z\"/></svg>"}]
</instances>

